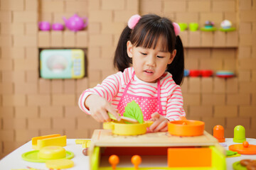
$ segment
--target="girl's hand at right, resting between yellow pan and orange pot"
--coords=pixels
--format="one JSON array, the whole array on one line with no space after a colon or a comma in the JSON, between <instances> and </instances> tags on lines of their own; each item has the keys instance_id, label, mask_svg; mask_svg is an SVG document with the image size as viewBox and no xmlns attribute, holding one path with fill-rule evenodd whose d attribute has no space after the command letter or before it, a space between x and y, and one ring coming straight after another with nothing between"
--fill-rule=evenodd
<instances>
[{"instance_id":1,"label":"girl's hand at right, resting between yellow pan and orange pot","mask_svg":"<svg viewBox=\"0 0 256 170\"><path fill-rule=\"evenodd\" d=\"M149 130L152 132L166 132L168 130L167 123L169 120L159 113L155 112L151 114L151 120L154 121L154 123L149 127Z\"/></svg>"}]
</instances>

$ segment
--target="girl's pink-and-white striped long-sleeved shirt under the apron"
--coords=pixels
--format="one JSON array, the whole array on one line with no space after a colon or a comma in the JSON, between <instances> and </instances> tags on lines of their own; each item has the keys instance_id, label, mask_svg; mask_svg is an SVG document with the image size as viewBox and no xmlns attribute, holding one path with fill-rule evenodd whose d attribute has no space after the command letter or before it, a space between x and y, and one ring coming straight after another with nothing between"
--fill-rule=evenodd
<instances>
[{"instance_id":1,"label":"girl's pink-and-white striped long-sleeved shirt under the apron","mask_svg":"<svg viewBox=\"0 0 256 170\"><path fill-rule=\"evenodd\" d=\"M102 96L111 103L113 108L117 108L125 87L132 79L133 72L134 68L129 67L124 69L124 72L117 72L117 74L107 77L102 81L102 84L97 84L94 88L83 91L78 101L80 109L90 115L90 111L84 105L85 98L90 94ZM169 120L179 120L181 116L185 116L181 87L175 84L169 72L165 72L160 77L160 89L161 106L165 117ZM135 75L127 93L137 96L157 97L157 82L147 83L138 79Z\"/></svg>"}]
</instances>

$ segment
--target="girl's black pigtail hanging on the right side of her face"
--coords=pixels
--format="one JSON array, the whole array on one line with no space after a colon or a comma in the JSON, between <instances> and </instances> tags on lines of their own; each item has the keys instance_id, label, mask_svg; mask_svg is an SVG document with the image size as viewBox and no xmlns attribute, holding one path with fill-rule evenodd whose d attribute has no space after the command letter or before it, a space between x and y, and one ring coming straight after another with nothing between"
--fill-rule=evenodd
<instances>
[{"instance_id":1,"label":"girl's black pigtail hanging on the right side of her face","mask_svg":"<svg viewBox=\"0 0 256 170\"><path fill-rule=\"evenodd\" d=\"M176 84L181 85L184 75L184 50L181 38L176 36L175 49L177 50L174 60L167 66L167 72L171 73Z\"/></svg>"}]
</instances>

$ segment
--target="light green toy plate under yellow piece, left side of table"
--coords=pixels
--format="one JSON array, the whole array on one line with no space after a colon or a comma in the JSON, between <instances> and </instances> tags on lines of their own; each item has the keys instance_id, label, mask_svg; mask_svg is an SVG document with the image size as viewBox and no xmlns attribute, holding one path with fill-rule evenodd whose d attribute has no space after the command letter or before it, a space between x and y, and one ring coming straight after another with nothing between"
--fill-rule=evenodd
<instances>
[{"instance_id":1,"label":"light green toy plate under yellow piece, left side of table","mask_svg":"<svg viewBox=\"0 0 256 170\"><path fill-rule=\"evenodd\" d=\"M38 155L39 155L39 150L33 150L33 151L23 153L21 157L23 160L27 162L46 162L48 160L52 160L52 159L41 159L38 157ZM72 159L73 157L74 157L73 152L66 151L66 157L64 157L63 159Z\"/></svg>"}]
</instances>

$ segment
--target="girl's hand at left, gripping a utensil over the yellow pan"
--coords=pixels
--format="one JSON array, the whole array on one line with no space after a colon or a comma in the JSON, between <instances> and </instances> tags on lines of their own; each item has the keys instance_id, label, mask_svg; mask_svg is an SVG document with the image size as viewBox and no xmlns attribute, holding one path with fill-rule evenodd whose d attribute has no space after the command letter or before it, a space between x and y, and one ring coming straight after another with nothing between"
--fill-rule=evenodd
<instances>
[{"instance_id":1,"label":"girl's hand at left, gripping a utensil over the yellow pan","mask_svg":"<svg viewBox=\"0 0 256 170\"><path fill-rule=\"evenodd\" d=\"M105 98L102 98L101 96L97 96L95 94L87 96L87 98L85 99L85 107L90 110L92 118L94 118L98 122L110 121L110 117L107 112L112 113L112 115L114 115L114 117L117 118L118 121L121 120L117 111L112 108L110 103L108 103Z\"/></svg>"}]
</instances>

